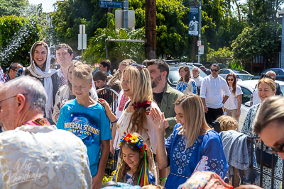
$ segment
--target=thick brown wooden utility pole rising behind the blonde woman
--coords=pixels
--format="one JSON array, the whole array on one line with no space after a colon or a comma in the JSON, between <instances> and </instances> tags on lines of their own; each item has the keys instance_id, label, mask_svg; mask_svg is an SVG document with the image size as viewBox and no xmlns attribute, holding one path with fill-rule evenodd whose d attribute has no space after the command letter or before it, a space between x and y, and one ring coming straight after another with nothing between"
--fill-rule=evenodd
<instances>
[{"instance_id":1,"label":"thick brown wooden utility pole rising behind the blonde woman","mask_svg":"<svg viewBox=\"0 0 284 189\"><path fill-rule=\"evenodd\" d=\"M146 33L146 59L156 58L155 35L155 0L145 1L145 33Z\"/></svg>"}]
</instances>

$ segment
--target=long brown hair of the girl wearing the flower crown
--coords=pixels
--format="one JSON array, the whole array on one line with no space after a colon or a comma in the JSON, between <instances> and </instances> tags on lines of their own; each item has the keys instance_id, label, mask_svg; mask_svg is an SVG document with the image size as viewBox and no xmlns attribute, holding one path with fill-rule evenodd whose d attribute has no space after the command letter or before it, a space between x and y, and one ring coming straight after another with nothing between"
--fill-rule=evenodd
<instances>
[{"instance_id":1,"label":"long brown hair of the girl wearing the flower crown","mask_svg":"<svg viewBox=\"0 0 284 189\"><path fill-rule=\"evenodd\" d=\"M143 137L140 134L138 134L136 132L131 132L130 134L132 136L137 136L138 138L142 139L143 142L145 142L145 140L143 139ZM117 173L117 174L119 174L118 182L121 182L121 180L123 180L123 182L126 182L126 177L125 177L126 173L128 171L130 171L129 165L126 164L126 162L124 161L124 156L123 156L124 147L128 147L129 149L131 149L131 151L137 152L139 154L143 153L143 158L141 158L140 164L137 168L137 171L135 173L133 173L133 177L132 177L134 185L137 185L138 178L139 178L139 175L140 175L140 172L141 172L141 168L143 168L143 162L145 161L144 152L141 152L141 149L138 148L135 143L131 143L130 141L121 142L121 149L120 149L120 152L119 152L119 157L121 159L121 163L120 163L121 168L120 168L119 173ZM151 153L150 153L149 148L146 150L146 162L147 162L147 165L148 165L148 170L151 171L152 168L153 168L153 165L152 165L152 161L151 161Z\"/></svg>"}]
</instances>

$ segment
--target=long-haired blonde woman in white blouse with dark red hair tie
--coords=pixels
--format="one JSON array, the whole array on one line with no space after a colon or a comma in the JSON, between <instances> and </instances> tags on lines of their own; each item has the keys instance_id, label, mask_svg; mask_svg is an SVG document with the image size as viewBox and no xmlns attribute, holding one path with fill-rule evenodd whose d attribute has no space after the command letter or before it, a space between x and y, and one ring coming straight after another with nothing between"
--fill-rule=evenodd
<instances>
[{"instance_id":1,"label":"long-haired blonde woman in white blouse with dark red hair tie","mask_svg":"<svg viewBox=\"0 0 284 189\"><path fill-rule=\"evenodd\" d=\"M136 63L126 67L122 73L121 87L124 89L124 96L129 97L130 100L124 106L119 119L116 118L114 113L111 113L106 101L99 99L99 103L104 106L107 117L116 127L120 137L129 132L137 132L143 137L147 148L153 151L153 154L156 154L157 131L151 122L149 113L151 108L156 108L159 112L160 109L153 101L151 76L148 69ZM112 145L113 140L111 142ZM154 169L155 166L153 166L151 172L155 175Z\"/></svg>"}]
</instances>

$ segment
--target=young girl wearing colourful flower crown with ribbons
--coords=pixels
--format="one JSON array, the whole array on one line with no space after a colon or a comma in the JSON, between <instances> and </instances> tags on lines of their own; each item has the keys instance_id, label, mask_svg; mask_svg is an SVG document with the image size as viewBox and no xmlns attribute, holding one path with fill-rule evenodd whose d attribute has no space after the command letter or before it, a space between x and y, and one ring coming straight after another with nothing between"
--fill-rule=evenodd
<instances>
[{"instance_id":1,"label":"young girl wearing colourful flower crown with ribbons","mask_svg":"<svg viewBox=\"0 0 284 189\"><path fill-rule=\"evenodd\" d=\"M141 135L125 134L119 145L121 162L113 181L140 186L155 184L155 176L149 171L153 167L151 153Z\"/></svg>"}]
</instances>

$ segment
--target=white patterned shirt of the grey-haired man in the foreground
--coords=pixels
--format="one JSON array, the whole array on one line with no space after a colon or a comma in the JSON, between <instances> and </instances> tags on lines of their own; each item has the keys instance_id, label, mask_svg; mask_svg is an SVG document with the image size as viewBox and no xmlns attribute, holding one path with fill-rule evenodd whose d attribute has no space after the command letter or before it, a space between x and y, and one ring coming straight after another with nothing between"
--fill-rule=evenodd
<instances>
[{"instance_id":1,"label":"white patterned shirt of the grey-haired man in the foreground","mask_svg":"<svg viewBox=\"0 0 284 189\"><path fill-rule=\"evenodd\" d=\"M0 188L91 188L87 147L55 125L0 134Z\"/></svg>"}]
</instances>

